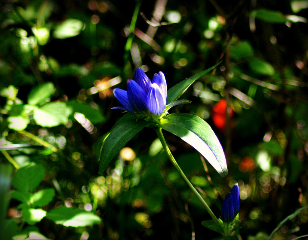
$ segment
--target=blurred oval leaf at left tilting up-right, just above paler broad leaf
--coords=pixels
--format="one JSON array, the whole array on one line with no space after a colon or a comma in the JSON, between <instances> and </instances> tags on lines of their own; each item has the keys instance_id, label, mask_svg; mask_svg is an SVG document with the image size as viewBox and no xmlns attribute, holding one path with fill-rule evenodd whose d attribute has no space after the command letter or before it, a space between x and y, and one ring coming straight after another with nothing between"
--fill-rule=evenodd
<instances>
[{"instance_id":1,"label":"blurred oval leaf at left tilting up-right, just above paler broad leaf","mask_svg":"<svg viewBox=\"0 0 308 240\"><path fill-rule=\"evenodd\" d=\"M55 92L55 86L51 82L37 86L30 92L28 96L28 104L35 105L46 100Z\"/></svg>"}]
</instances>

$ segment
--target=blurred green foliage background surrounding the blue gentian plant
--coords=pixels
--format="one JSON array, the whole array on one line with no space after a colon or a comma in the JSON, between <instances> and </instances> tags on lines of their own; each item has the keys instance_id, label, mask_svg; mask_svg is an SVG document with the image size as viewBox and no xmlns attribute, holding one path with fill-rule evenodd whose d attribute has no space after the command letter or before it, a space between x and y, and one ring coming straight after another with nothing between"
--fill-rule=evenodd
<instances>
[{"instance_id":1,"label":"blurred green foliage background surrounding the blue gentian plant","mask_svg":"<svg viewBox=\"0 0 308 240\"><path fill-rule=\"evenodd\" d=\"M172 154L217 217L239 184L236 239L307 234L308 210L295 212L308 204L306 1L4 0L0 8L4 239L219 237L201 225L209 215L152 129L103 175L93 148L123 115L110 109L119 105L112 89L126 89L136 66L150 78L164 72L170 89L221 60L181 97L192 103L170 113L207 121L229 174L164 132Z\"/></svg>"}]
</instances>

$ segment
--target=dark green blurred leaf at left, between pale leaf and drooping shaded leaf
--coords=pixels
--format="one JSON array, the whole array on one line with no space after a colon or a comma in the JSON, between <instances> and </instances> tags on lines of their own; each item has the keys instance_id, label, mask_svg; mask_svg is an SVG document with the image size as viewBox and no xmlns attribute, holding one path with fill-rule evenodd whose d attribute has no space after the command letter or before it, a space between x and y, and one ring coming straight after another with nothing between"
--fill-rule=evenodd
<instances>
[{"instance_id":1,"label":"dark green blurred leaf at left, between pale leaf and drooping shaded leaf","mask_svg":"<svg viewBox=\"0 0 308 240\"><path fill-rule=\"evenodd\" d=\"M102 112L98 109L92 108L89 104L69 101L67 102L67 106L71 107L73 112L82 113L93 124L102 123L105 120Z\"/></svg>"}]
</instances>

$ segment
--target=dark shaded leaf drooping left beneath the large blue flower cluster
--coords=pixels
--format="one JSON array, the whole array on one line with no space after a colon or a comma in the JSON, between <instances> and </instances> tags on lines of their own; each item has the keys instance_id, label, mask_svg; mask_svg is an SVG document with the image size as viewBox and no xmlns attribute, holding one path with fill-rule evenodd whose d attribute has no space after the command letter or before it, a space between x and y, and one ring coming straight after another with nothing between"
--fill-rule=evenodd
<instances>
[{"instance_id":1,"label":"dark shaded leaf drooping left beneath the large blue flower cluster","mask_svg":"<svg viewBox=\"0 0 308 240\"><path fill-rule=\"evenodd\" d=\"M107 165L114 156L132 139L138 132L149 123L144 120L128 120L120 122L112 129L103 143L102 153L99 162L99 174L103 174Z\"/></svg>"}]
</instances>

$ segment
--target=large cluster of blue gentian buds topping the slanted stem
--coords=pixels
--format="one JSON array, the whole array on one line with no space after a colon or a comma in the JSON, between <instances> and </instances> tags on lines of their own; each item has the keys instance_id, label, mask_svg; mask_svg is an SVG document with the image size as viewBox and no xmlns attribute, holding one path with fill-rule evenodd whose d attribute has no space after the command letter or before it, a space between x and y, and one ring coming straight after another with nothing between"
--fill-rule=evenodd
<instances>
[{"instance_id":1,"label":"large cluster of blue gentian buds topping the slanted stem","mask_svg":"<svg viewBox=\"0 0 308 240\"><path fill-rule=\"evenodd\" d=\"M116 99L122 104L122 109L137 117L154 115L158 118L166 108L167 82L164 73L155 73L152 82L144 71L137 67L135 81L127 80L127 91L113 89Z\"/></svg>"}]
</instances>

